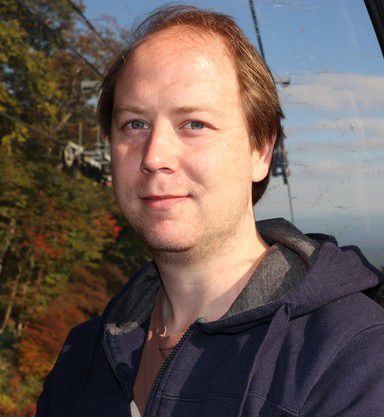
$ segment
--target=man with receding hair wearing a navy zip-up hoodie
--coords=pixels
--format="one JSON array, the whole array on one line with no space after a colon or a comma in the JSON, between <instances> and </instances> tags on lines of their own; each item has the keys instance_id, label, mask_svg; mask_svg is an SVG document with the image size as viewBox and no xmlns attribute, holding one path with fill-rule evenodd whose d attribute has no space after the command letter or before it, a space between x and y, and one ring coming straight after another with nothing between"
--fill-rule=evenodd
<instances>
[{"instance_id":1,"label":"man with receding hair wearing a navy zip-up hoodie","mask_svg":"<svg viewBox=\"0 0 384 417\"><path fill-rule=\"evenodd\" d=\"M154 12L103 80L117 202L152 252L73 329L37 416L382 416L382 281L355 249L255 225L282 112L231 18Z\"/></svg>"}]
</instances>

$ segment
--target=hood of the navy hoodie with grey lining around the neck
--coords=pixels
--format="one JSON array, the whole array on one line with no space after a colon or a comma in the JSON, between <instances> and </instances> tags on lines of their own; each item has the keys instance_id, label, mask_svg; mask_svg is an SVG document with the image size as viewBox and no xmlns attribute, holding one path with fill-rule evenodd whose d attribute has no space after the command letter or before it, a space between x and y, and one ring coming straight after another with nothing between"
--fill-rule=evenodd
<instances>
[{"instance_id":1,"label":"hood of the navy hoodie with grey lining around the neck","mask_svg":"<svg viewBox=\"0 0 384 417\"><path fill-rule=\"evenodd\" d=\"M282 305L286 306L289 317L305 314L383 281L377 270L366 260L362 261L357 248L338 248L331 237L309 237L282 218L259 221L257 230L272 246L227 314L203 324L209 332L224 328L236 331L238 326L255 320L270 321ZM279 274L280 282L277 280L260 297L260 277L266 281ZM151 315L160 286L155 263L147 263L111 306L106 331L113 335L125 334L140 326Z\"/></svg>"}]
</instances>

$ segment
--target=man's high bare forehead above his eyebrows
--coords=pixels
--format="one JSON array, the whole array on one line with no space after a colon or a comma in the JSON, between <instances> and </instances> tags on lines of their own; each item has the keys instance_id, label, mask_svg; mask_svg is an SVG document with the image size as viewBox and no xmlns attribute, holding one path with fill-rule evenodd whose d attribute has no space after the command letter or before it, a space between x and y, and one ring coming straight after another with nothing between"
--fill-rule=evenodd
<instances>
[{"instance_id":1,"label":"man's high bare forehead above his eyebrows","mask_svg":"<svg viewBox=\"0 0 384 417\"><path fill-rule=\"evenodd\" d=\"M117 83L184 82L225 84L238 90L237 75L223 40L186 26L171 27L150 35L131 53ZM116 89L118 92L118 88Z\"/></svg>"}]
</instances>

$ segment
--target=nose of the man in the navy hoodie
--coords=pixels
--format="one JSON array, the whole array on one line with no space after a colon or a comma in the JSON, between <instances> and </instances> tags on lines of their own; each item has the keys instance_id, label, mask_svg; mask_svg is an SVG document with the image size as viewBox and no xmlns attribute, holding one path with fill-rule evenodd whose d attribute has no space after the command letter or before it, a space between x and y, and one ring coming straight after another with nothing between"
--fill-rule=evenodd
<instances>
[{"instance_id":1,"label":"nose of the man in the navy hoodie","mask_svg":"<svg viewBox=\"0 0 384 417\"><path fill-rule=\"evenodd\" d=\"M177 170L177 135L173 127L154 127L146 141L140 170L144 174Z\"/></svg>"}]
</instances>

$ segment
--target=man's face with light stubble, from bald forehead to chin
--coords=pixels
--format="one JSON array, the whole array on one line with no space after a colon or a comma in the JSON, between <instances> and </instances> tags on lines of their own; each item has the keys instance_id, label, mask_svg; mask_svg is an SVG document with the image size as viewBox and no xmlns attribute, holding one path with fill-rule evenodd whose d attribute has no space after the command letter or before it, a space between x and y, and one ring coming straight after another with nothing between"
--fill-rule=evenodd
<instances>
[{"instance_id":1,"label":"man's face with light stubble, from bald forehead to chin","mask_svg":"<svg viewBox=\"0 0 384 417\"><path fill-rule=\"evenodd\" d=\"M140 45L114 90L117 202L156 253L202 257L253 222L251 152L222 42L167 29Z\"/></svg>"}]
</instances>

